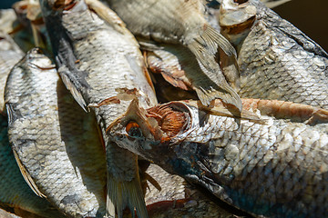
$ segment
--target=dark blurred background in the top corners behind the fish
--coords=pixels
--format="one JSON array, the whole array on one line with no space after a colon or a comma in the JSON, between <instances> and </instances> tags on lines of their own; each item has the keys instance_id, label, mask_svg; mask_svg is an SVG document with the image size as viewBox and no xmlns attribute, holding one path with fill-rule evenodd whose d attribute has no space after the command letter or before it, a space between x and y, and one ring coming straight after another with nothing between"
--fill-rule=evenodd
<instances>
[{"instance_id":1,"label":"dark blurred background in the top corners behind the fish","mask_svg":"<svg viewBox=\"0 0 328 218\"><path fill-rule=\"evenodd\" d=\"M0 0L0 8L9 8L14 2L15 0ZM292 0L273 10L328 51L327 0Z\"/></svg>"}]
</instances>

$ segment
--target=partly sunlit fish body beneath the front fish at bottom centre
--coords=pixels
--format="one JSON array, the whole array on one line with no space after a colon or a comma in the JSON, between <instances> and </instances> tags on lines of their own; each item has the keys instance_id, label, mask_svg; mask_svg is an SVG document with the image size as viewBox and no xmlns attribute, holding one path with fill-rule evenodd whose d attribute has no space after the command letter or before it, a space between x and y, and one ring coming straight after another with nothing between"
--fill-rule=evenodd
<instances>
[{"instance_id":1,"label":"partly sunlit fish body beneath the front fish at bottom centre","mask_svg":"<svg viewBox=\"0 0 328 218\"><path fill-rule=\"evenodd\" d=\"M179 175L167 173L158 165L150 163L146 173L161 187L160 191L152 184L147 188L145 201L151 218L223 218L233 214L226 205L213 201L204 190L198 190Z\"/></svg>"}]
</instances>

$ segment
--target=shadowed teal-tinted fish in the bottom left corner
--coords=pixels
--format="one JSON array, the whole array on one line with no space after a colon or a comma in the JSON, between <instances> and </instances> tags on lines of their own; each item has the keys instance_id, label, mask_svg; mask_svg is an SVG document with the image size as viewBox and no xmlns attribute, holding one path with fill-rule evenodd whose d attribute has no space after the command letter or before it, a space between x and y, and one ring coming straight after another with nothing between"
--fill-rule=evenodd
<instances>
[{"instance_id":1,"label":"shadowed teal-tinted fish in the bottom left corner","mask_svg":"<svg viewBox=\"0 0 328 218\"><path fill-rule=\"evenodd\" d=\"M0 114L0 205L25 210L42 217L66 217L44 198L37 196L24 180L8 142L7 119ZM1 214L3 217L4 214Z\"/></svg>"}]
</instances>

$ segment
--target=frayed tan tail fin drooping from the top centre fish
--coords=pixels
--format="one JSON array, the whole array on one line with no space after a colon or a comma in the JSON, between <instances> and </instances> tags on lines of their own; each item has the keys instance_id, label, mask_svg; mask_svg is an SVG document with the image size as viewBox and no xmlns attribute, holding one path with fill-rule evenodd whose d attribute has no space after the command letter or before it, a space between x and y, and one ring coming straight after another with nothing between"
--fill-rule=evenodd
<instances>
[{"instance_id":1,"label":"frayed tan tail fin drooping from the top centre fish","mask_svg":"<svg viewBox=\"0 0 328 218\"><path fill-rule=\"evenodd\" d=\"M195 54L202 72L206 74L214 84L216 84L209 87L196 87L197 94L200 94L199 96L201 96L200 101L204 103L204 105L209 105L211 100L220 98L226 104L233 104L241 111L241 98L228 84L227 78L222 74L219 61L217 60L217 57L220 54L220 49L228 56L231 56L231 58L236 59L236 51L229 41L212 27L208 26L204 33L190 43L188 47L190 48L190 51ZM237 61L233 61L233 63L237 63ZM234 69L237 70L238 68ZM233 75L236 74L239 75L238 72ZM214 90L216 90L216 92Z\"/></svg>"}]
</instances>

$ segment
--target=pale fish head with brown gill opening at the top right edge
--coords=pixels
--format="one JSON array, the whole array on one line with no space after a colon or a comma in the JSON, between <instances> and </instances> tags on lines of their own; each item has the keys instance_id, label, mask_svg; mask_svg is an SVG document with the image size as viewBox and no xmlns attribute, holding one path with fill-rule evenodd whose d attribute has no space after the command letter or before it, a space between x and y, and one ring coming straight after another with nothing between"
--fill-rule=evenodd
<instances>
[{"instance_id":1,"label":"pale fish head with brown gill opening at the top right edge","mask_svg":"<svg viewBox=\"0 0 328 218\"><path fill-rule=\"evenodd\" d=\"M257 10L251 0L222 0L219 12L219 24L222 35L232 45L239 45L250 33L256 21Z\"/></svg>"}]
</instances>

